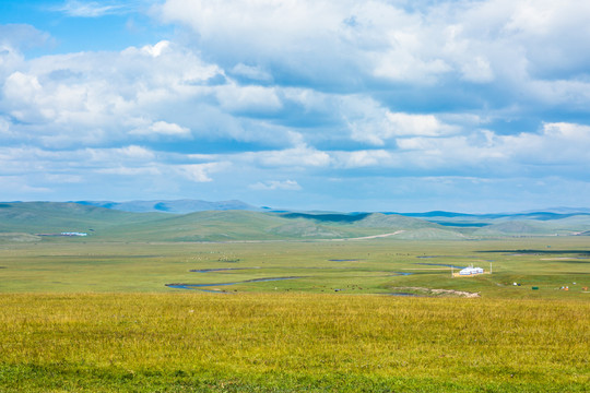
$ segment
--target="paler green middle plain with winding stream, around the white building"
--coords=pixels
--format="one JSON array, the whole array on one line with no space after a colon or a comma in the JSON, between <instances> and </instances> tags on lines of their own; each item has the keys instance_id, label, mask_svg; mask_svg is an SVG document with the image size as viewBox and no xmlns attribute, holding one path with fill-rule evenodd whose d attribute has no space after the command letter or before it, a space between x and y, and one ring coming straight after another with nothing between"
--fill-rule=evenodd
<instances>
[{"instance_id":1,"label":"paler green middle plain with winding stream, around the white building","mask_svg":"<svg viewBox=\"0 0 590 393\"><path fill-rule=\"evenodd\" d=\"M582 288L590 287L589 254L587 237L219 243L50 238L0 245L0 293L178 293L182 290L165 285L211 284L203 289L234 294L339 289L345 295L423 294L408 288L436 288L503 299L588 300L590 294ZM447 266L472 263L486 271L492 264L494 273L452 278ZM280 277L297 278L252 282ZM243 284L213 285L226 283ZM559 290L565 286L570 290Z\"/></svg>"}]
</instances>

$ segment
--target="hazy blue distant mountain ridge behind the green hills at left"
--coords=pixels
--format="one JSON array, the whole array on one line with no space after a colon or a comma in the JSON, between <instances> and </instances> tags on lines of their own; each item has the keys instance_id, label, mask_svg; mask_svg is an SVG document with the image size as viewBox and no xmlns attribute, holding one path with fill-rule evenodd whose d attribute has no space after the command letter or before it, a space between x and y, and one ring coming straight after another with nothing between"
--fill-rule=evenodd
<instances>
[{"instance_id":1,"label":"hazy blue distant mountain ridge behind the green hills at left","mask_svg":"<svg viewBox=\"0 0 590 393\"><path fill-rule=\"evenodd\" d=\"M123 212L132 213L174 213L186 214L193 212L204 211L228 211L228 210L241 210L241 211L261 211L262 209L252 206L241 201L220 201L208 202L200 200L176 200L176 201L130 201L130 202L110 202L110 201L76 201L75 203L98 206L105 209L119 210Z\"/></svg>"}]
</instances>

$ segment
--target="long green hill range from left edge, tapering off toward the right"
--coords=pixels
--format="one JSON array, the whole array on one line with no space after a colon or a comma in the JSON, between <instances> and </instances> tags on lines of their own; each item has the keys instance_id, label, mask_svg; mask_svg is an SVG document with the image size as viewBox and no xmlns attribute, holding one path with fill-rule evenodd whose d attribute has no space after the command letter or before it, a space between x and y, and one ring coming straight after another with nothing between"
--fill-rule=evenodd
<instances>
[{"instance_id":1,"label":"long green hill range from left edge, tapering off toward the right","mask_svg":"<svg viewBox=\"0 0 590 393\"><path fill-rule=\"evenodd\" d=\"M422 219L385 214L282 214L251 211L208 211L182 215L129 213L78 203L22 202L0 205L4 239L88 233L86 240L240 241L341 239L401 229L436 228Z\"/></svg>"}]
</instances>

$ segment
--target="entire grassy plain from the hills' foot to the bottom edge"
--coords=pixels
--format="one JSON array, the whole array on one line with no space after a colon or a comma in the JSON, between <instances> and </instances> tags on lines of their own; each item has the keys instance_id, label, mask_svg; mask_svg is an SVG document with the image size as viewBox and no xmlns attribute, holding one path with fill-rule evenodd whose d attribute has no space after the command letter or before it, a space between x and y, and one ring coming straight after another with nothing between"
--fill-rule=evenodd
<instances>
[{"instance_id":1,"label":"entire grassy plain from the hills' foot to the bottom edge","mask_svg":"<svg viewBox=\"0 0 590 393\"><path fill-rule=\"evenodd\" d=\"M587 237L155 242L101 230L0 239L1 392L588 391ZM471 263L494 272L451 277L447 265Z\"/></svg>"}]
</instances>

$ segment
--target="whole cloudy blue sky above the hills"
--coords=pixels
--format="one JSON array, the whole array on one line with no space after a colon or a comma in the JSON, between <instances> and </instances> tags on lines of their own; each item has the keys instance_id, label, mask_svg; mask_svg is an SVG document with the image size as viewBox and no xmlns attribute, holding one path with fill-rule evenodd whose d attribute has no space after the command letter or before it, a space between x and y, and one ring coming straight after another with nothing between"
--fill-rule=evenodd
<instances>
[{"instance_id":1,"label":"whole cloudy blue sky above the hills","mask_svg":"<svg viewBox=\"0 0 590 393\"><path fill-rule=\"evenodd\" d=\"M590 206L587 0L1 0L0 200Z\"/></svg>"}]
</instances>

